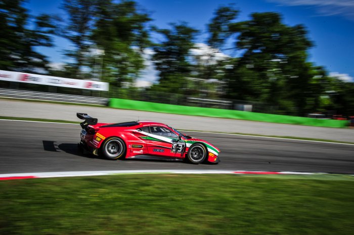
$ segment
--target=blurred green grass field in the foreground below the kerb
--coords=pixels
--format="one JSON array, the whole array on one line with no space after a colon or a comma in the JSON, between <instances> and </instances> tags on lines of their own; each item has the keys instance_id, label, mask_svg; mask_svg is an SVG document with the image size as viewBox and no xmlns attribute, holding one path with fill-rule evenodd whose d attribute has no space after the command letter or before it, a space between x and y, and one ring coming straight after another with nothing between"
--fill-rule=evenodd
<instances>
[{"instance_id":1,"label":"blurred green grass field in the foreground below the kerb","mask_svg":"<svg viewBox=\"0 0 354 235\"><path fill-rule=\"evenodd\" d=\"M354 234L352 176L0 181L0 234Z\"/></svg>"}]
</instances>

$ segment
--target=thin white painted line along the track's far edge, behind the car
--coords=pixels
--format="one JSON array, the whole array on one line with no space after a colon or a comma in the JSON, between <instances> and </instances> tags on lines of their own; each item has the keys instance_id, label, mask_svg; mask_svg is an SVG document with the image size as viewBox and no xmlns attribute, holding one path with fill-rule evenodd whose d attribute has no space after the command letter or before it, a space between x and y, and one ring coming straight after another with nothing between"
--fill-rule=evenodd
<instances>
[{"instance_id":1,"label":"thin white painted line along the track's far edge, behind the car","mask_svg":"<svg viewBox=\"0 0 354 235\"><path fill-rule=\"evenodd\" d=\"M38 122L38 123L79 125L78 123L65 123L65 122L45 122L45 121L27 121L27 120L0 119L0 121L2 121L2 120L3 121L17 121L17 122ZM218 133L218 132L193 131L193 130L180 130L180 131L196 132L196 133L208 133L208 134L237 135L237 136L248 136L248 137L257 137L257 138L275 138L275 139L297 140L297 141L314 142L314 143L326 143L326 144L337 144L337 145L354 145L354 144L338 143L338 142L327 142L327 141L320 141L320 140L308 140L308 139L297 139L297 138L282 138L282 137L272 137L272 136L258 136L258 135L249 135L249 134L231 134L231 133Z\"/></svg>"}]
</instances>

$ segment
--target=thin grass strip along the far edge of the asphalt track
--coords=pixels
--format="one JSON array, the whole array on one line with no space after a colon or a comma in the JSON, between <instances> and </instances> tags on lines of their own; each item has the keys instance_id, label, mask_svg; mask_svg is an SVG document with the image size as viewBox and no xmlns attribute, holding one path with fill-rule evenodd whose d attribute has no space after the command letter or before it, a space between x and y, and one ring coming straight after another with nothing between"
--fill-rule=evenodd
<instances>
[{"instance_id":1,"label":"thin grass strip along the far edge of the asphalt track","mask_svg":"<svg viewBox=\"0 0 354 235\"><path fill-rule=\"evenodd\" d=\"M59 123L73 123L73 124L79 124L80 123L80 122L65 121L65 120L52 120L52 119L42 119L42 118L5 117L5 116L0 116L0 119L19 120L19 121L38 121L38 122L59 122ZM181 130L181 131L182 132L183 131L210 132L210 133L225 134L224 132L217 132L217 131L200 131L200 130ZM287 138L287 139L300 139L300 140L312 140L312 141L320 141L320 142L341 143L341 144L354 145L353 142L342 142L342 141L331 140L331 139L303 138L303 137L279 136L279 135L261 135L261 134L234 133L234 132L226 133L226 134L250 135L250 136L259 136L259 137L275 137L275 138Z\"/></svg>"}]
</instances>

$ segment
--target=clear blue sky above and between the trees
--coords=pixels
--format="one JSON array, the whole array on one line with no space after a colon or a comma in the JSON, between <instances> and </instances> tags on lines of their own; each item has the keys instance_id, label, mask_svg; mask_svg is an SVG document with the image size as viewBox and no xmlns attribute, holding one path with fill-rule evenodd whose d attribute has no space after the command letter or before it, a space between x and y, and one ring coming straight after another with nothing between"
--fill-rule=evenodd
<instances>
[{"instance_id":1,"label":"clear blue sky above and between the trees","mask_svg":"<svg viewBox=\"0 0 354 235\"><path fill-rule=\"evenodd\" d=\"M168 23L186 21L202 33L196 42L205 42L206 24L220 5L235 4L241 13L238 20L248 20L253 12L279 12L288 25L304 24L315 47L309 51L309 61L325 66L328 72L342 79L354 77L354 0L138 0L141 8L151 13L159 28ZM65 15L61 0L29 0L25 7L33 15L40 13ZM65 61L61 51L70 43L56 37L55 48L39 48L51 62ZM342 75L340 75L342 74ZM347 74L345 76L345 74Z\"/></svg>"}]
</instances>

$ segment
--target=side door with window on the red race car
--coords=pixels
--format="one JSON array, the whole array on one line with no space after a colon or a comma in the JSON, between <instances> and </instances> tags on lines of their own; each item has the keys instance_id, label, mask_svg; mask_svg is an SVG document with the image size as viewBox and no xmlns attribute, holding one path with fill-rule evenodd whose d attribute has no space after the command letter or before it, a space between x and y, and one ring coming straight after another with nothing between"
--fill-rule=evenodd
<instances>
[{"instance_id":1,"label":"side door with window on the red race car","mask_svg":"<svg viewBox=\"0 0 354 235\"><path fill-rule=\"evenodd\" d=\"M172 143L178 140L178 135L163 126L150 126L150 135L146 140L149 154L156 156L175 157Z\"/></svg>"}]
</instances>

